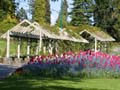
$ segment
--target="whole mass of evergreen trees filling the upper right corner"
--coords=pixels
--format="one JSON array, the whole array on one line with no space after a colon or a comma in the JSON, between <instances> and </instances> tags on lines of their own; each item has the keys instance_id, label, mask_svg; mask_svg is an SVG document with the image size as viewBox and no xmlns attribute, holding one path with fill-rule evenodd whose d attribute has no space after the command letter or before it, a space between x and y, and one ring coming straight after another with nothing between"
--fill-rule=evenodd
<instances>
[{"instance_id":1,"label":"whole mass of evergreen trees filling the upper right corner","mask_svg":"<svg viewBox=\"0 0 120 90\"><path fill-rule=\"evenodd\" d=\"M119 0L104 0L102 2L101 0L75 0L72 5L71 25L94 24L120 41Z\"/></svg>"}]
</instances>

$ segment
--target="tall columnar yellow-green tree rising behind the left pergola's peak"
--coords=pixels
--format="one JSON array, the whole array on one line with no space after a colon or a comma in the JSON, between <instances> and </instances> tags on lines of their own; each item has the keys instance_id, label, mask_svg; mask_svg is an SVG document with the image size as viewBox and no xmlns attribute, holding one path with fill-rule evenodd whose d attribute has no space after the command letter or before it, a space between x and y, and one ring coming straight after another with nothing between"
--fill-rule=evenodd
<instances>
[{"instance_id":1,"label":"tall columnar yellow-green tree rising behind the left pergola's peak","mask_svg":"<svg viewBox=\"0 0 120 90\"><path fill-rule=\"evenodd\" d=\"M33 3L33 20L40 25L50 23L50 5L48 0L35 0Z\"/></svg>"}]
</instances>

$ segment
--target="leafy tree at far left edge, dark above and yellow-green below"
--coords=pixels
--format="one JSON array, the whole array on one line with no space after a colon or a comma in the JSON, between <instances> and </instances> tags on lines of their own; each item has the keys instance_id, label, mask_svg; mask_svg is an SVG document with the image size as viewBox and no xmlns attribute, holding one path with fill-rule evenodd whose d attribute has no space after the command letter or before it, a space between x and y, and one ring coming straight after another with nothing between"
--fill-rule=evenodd
<instances>
[{"instance_id":1,"label":"leafy tree at far left edge, dark above and yellow-green below","mask_svg":"<svg viewBox=\"0 0 120 90\"><path fill-rule=\"evenodd\" d=\"M17 20L15 17L16 3L15 0L0 0L0 32L13 27Z\"/></svg>"}]
</instances>

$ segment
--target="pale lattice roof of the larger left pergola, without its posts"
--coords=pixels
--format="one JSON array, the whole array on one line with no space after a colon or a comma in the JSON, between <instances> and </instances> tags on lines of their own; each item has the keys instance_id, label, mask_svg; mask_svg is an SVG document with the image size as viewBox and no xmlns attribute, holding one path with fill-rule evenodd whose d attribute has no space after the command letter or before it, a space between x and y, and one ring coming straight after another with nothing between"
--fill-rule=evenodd
<instances>
[{"instance_id":1,"label":"pale lattice roof of the larger left pergola, without its posts","mask_svg":"<svg viewBox=\"0 0 120 90\"><path fill-rule=\"evenodd\" d=\"M73 36L70 36L68 33L67 35L60 34L56 35L50 30L42 28L37 22L31 23L28 20L23 20L16 26L14 26L10 31L10 36L12 37L22 37L22 38L34 38L39 39L40 37L40 31L41 36L48 37L51 39L60 39L60 40L70 40L74 42L84 42L88 43L88 41L84 38L76 39ZM65 31L62 31L62 33ZM1 36L1 38L7 38L7 32ZM44 38L43 38L44 39Z\"/></svg>"}]
</instances>

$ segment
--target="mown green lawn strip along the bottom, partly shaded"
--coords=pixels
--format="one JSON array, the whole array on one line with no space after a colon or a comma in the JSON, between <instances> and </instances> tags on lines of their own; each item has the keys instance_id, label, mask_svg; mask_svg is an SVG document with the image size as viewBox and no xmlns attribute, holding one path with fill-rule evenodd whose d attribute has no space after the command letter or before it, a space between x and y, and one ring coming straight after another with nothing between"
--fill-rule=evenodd
<instances>
[{"instance_id":1,"label":"mown green lawn strip along the bottom, partly shaded","mask_svg":"<svg viewBox=\"0 0 120 90\"><path fill-rule=\"evenodd\" d=\"M0 90L120 90L120 79L9 78Z\"/></svg>"}]
</instances>

